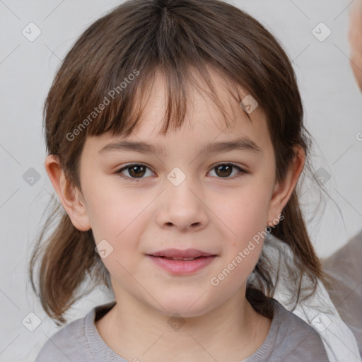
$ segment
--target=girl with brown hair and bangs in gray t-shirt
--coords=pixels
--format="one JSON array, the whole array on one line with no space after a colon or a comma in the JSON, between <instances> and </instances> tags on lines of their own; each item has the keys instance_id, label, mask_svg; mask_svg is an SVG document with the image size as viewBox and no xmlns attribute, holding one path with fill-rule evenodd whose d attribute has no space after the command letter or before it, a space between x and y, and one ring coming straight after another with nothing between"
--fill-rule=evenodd
<instances>
[{"instance_id":1,"label":"girl with brown hair and bangs in gray t-shirt","mask_svg":"<svg viewBox=\"0 0 362 362\"><path fill-rule=\"evenodd\" d=\"M42 230L33 288L58 325L87 279L115 300L37 362L328 361L272 298L285 272L291 305L323 273L296 191L311 169L296 76L254 18L219 0L125 1L66 55L45 136L65 212Z\"/></svg>"}]
</instances>

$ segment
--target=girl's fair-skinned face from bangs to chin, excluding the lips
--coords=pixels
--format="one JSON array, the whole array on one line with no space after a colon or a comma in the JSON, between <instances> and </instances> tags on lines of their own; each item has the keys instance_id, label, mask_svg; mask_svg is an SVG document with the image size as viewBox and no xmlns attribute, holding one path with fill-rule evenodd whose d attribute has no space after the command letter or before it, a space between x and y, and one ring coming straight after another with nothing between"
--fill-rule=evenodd
<instances>
[{"instance_id":1,"label":"girl's fair-skinned face from bangs to chin, excluding the lips","mask_svg":"<svg viewBox=\"0 0 362 362\"><path fill-rule=\"evenodd\" d=\"M103 253L112 245L103 262L117 300L138 301L165 314L201 315L232 296L243 298L262 250L258 232L268 222L275 223L286 202L272 197L274 150L259 108L250 114L250 122L220 83L217 89L232 113L230 129L211 100L195 91L190 122L162 136L162 78L154 87L141 127L127 141L162 147L164 154L116 148L100 153L107 144L124 139L109 134L86 139L80 170L86 218L95 243L107 240ZM203 146L242 138L252 140L260 151L200 153ZM129 163L147 168L126 168L121 177L118 170ZM216 168L218 163L224 168ZM235 166L227 168L228 163ZM192 248L216 257L189 274L175 274L147 256L168 248Z\"/></svg>"}]
</instances>

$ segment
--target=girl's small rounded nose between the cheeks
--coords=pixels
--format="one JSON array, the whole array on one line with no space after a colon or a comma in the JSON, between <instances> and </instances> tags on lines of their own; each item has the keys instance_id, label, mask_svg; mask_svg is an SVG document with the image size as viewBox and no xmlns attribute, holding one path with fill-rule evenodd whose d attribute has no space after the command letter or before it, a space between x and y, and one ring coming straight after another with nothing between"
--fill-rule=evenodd
<instances>
[{"instance_id":1,"label":"girl's small rounded nose between the cheeks","mask_svg":"<svg viewBox=\"0 0 362 362\"><path fill-rule=\"evenodd\" d=\"M160 228L177 230L201 230L209 222L204 193L196 187L191 177L186 177L180 185L165 182L165 191L158 200L156 221Z\"/></svg>"}]
</instances>

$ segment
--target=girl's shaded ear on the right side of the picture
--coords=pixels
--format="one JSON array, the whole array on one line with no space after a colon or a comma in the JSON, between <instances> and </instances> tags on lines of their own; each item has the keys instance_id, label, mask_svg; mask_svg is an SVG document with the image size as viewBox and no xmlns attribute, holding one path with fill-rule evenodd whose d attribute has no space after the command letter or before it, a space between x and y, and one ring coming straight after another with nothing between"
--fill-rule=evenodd
<instances>
[{"instance_id":1,"label":"girl's shaded ear on the right side of the picture","mask_svg":"<svg viewBox=\"0 0 362 362\"><path fill-rule=\"evenodd\" d=\"M278 219L281 211L286 206L288 199L291 197L293 190L295 189L299 176L303 171L305 163L305 151L301 146L295 146L294 156L291 166L286 173L286 177L282 182L276 182L274 186L273 194L271 195L269 214L268 214L268 226L275 224L272 221Z\"/></svg>"}]
</instances>

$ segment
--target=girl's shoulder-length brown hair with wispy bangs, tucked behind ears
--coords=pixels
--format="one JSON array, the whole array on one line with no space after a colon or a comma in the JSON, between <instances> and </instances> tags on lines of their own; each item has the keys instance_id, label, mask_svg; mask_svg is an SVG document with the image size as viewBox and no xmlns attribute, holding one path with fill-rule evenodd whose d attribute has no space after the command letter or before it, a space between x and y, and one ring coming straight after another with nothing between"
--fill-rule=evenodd
<instances>
[{"instance_id":1,"label":"girl's shoulder-length brown hair with wispy bangs, tucked behind ears","mask_svg":"<svg viewBox=\"0 0 362 362\"><path fill-rule=\"evenodd\" d=\"M170 123L174 129L182 125L186 86L193 83L192 69L202 75L223 112L206 66L228 79L230 88L242 85L262 107L274 146L277 181L286 175L296 145L304 148L305 168L312 170L309 133L303 125L303 105L291 62L259 22L219 0L129 0L95 21L64 58L47 95L47 152L57 157L66 177L81 189L78 165L86 136L104 132L129 136L144 110L142 102L134 102L136 95L141 94L143 99L156 71L165 75L168 91L164 134ZM240 103L240 95L233 98ZM291 247L288 288L298 301L302 278L309 281L307 298L323 274L296 189L283 216L285 221L275 226L271 235ZM54 230L45 238L54 223ZM34 280L37 261L39 291ZM269 271L271 262L262 252L253 271L255 278L247 285L247 299L264 315L270 314L266 301L273 296L278 280L278 275L275 281ZM111 288L109 272L95 252L92 231L77 230L57 204L30 260L33 290L56 322L66 322L63 315L79 298L76 291L86 276L91 277L93 286Z\"/></svg>"}]
</instances>

